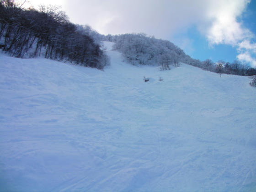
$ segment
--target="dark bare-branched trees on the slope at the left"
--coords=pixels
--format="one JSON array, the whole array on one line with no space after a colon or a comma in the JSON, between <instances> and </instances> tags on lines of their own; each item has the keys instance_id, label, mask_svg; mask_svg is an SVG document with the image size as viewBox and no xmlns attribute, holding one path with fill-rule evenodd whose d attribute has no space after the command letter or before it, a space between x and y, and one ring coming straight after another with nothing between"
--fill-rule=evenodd
<instances>
[{"instance_id":1,"label":"dark bare-branched trees on the slope at the left","mask_svg":"<svg viewBox=\"0 0 256 192\"><path fill-rule=\"evenodd\" d=\"M22 9L15 0L0 0L0 47L11 56L43 55L102 69L108 58L82 28L69 22L58 7Z\"/></svg>"}]
</instances>

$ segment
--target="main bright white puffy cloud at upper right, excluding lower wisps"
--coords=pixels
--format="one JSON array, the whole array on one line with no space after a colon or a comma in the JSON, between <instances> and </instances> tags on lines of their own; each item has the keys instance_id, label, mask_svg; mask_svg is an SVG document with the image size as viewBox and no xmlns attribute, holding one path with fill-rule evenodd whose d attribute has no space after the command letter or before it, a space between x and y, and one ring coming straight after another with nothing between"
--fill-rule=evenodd
<instances>
[{"instance_id":1,"label":"main bright white puffy cloud at upper right, excluding lower wisps","mask_svg":"<svg viewBox=\"0 0 256 192\"><path fill-rule=\"evenodd\" d=\"M239 41L252 37L251 32L237 21L248 3L249 0L220 0L210 5L208 17L212 19L212 24L206 34L208 41L235 46Z\"/></svg>"}]
</instances>

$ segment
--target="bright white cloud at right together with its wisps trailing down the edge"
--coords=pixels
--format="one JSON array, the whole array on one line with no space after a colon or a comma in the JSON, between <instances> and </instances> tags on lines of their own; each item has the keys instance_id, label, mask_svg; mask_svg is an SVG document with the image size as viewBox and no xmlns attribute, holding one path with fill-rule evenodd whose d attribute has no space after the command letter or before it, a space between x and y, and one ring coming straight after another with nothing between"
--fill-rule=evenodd
<instances>
[{"instance_id":1,"label":"bright white cloud at right together with its wisps trailing down the edge","mask_svg":"<svg viewBox=\"0 0 256 192\"><path fill-rule=\"evenodd\" d=\"M237 20L248 3L250 0L222 0L218 6L211 6L208 16L213 21L206 36L212 45L229 44L236 47L239 53L237 58L256 67L256 59L252 57L256 53L256 43L250 42L255 36Z\"/></svg>"}]
</instances>

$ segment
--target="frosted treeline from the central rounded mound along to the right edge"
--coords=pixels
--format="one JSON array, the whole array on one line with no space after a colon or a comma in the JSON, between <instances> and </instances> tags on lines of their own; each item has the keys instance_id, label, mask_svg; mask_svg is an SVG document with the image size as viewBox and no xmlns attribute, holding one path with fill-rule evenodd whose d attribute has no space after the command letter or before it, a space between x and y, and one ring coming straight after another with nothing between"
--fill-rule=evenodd
<instances>
[{"instance_id":1,"label":"frosted treeline from the central rounded mound along to the right edge","mask_svg":"<svg viewBox=\"0 0 256 192\"><path fill-rule=\"evenodd\" d=\"M161 69L170 69L180 62L209 70L215 73L251 76L256 69L235 60L233 63L219 60L214 63L210 59L200 61L192 59L181 48L167 40L147 37L145 34L107 35L101 40L115 42L114 49L120 51L126 61L131 64L160 65Z\"/></svg>"}]
</instances>

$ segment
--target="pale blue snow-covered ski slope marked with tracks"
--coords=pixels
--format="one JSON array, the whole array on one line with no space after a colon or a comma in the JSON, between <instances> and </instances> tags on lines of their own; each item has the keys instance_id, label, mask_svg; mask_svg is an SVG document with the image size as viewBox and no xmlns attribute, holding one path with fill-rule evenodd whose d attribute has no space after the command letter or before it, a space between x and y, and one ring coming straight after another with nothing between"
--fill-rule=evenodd
<instances>
[{"instance_id":1,"label":"pale blue snow-covered ski slope marked with tracks","mask_svg":"<svg viewBox=\"0 0 256 192\"><path fill-rule=\"evenodd\" d=\"M0 55L0 191L256 191L248 77L105 45L104 71Z\"/></svg>"}]
</instances>

